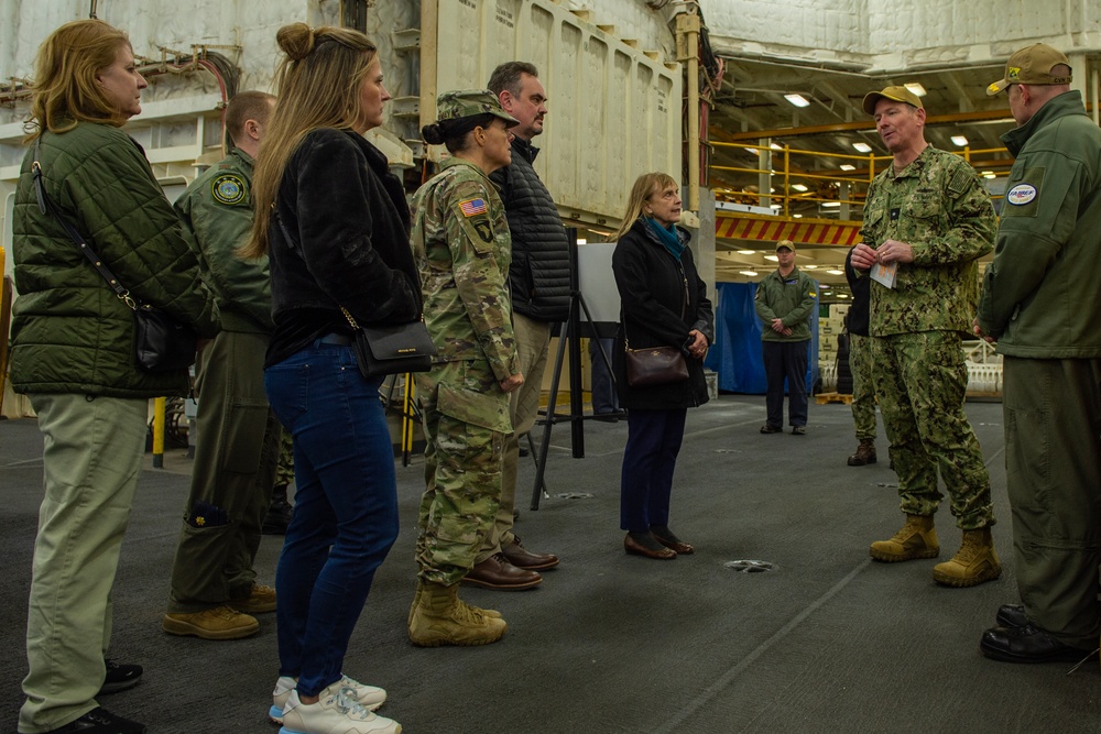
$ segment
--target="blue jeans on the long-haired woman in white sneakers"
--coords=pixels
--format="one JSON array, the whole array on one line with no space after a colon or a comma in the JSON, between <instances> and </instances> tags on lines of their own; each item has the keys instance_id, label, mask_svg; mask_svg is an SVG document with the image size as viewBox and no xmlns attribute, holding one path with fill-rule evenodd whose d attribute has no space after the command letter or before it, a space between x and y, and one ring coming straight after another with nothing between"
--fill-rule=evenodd
<instances>
[{"instance_id":1,"label":"blue jeans on the long-haired woman in white sneakers","mask_svg":"<svg viewBox=\"0 0 1101 734\"><path fill-rule=\"evenodd\" d=\"M275 571L280 675L316 695L340 679L374 571L397 539L393 443L351 347L314 342L264 371L294 439L294 516Z\"/></svg>"}]
</instances>

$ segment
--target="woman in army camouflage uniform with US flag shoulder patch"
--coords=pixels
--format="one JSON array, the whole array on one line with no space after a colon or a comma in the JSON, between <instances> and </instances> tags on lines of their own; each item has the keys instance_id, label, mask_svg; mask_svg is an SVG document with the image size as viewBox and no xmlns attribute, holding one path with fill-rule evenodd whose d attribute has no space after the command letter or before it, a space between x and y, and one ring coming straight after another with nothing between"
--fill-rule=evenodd
<instances>
[{"instance_id":1,"label":"woman in army camouflage uniform with US flag shoulder patch","mask_svg":"<svg viewBox=\"0 0 1101 734\"><path fill-rule=\"evenodd\" d=\"M488 90L446 92L437 110L436 127L454 131L442 133L444 140L458 136L476 145L477 135L508 135L494 139L502 145L495 155L508 155L511 133L499 125L516 120ZM424 647L483 645L506 627L500 614L468 606L457 594L500 506L504 443L512 432L509 393L524 382L509 296L509 223L489 171L476 157L484 150L453 150L413 199L413 255L425 322L439 350L419 379L426 487L408 636Z\"/></svg>"}]
</instances>

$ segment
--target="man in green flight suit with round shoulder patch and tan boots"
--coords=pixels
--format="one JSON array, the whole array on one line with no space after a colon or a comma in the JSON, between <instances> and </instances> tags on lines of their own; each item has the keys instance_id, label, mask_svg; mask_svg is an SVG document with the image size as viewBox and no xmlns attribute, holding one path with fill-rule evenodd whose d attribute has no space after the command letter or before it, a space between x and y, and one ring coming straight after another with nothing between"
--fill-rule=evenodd
<instances>
[{"instance_id":1,"label":"man in green flight suit with round shoulder patch and tan boots","mask_svg":"<svg viewBox=\"0 0 1101 734\"><path fill-rule=\"evenodd\" d=\"M275 590L255 583L261 524L271 503L282 428L264 394L271 335L268 261L242 260L252 229L252 166L274 97L237 95L226 109L233 150L176 201L184 232L216 294L221 331L199 355L198 441L172 568L165 632L236 639L275 611Z\"/></svg>"}]
</instances>

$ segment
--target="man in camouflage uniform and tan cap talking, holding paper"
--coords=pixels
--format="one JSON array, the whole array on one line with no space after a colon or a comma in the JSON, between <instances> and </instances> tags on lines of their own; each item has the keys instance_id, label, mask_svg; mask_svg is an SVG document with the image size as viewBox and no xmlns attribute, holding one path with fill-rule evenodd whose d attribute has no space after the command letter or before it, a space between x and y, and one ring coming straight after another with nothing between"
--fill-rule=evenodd
<instances>
[{"instance_id":1,"label":"man in camouflage uniform and tan cap talking, holding paper","mask_svg":"<svg viewBox=\"0 0 1101 734\"><path fill-rule=\"evenodd\" d=\"M905 87L864 97L880 138L893 156L868 189L852 265L879 278L871 284L875 396L891 440L906 523L890 540L873 543L880 561L936 558L933 515L944 495L963 532L956 556L933 569L950 587L996 579L1002 567L990 526L994 511L982 449L963 412L967 366L962 335L970 335L979 296L978 259L990 252L995 220L990 196L961 157L925 141L925 109Z\"/></svg>"}]
</instances>

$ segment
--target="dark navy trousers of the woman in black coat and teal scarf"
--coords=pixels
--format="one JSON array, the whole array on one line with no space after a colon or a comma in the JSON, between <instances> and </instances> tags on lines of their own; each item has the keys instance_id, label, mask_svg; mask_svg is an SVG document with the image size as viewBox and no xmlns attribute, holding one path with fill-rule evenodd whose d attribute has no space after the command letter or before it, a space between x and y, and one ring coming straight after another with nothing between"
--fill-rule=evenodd
<instances>
[{"instance_id":1,"label":"dark navy trousers of the woman in black coat and teal scarf","mask_svg":"<svg viewBox=\"0 0 1101 734\"><path fill-rule=\"evenodd\" d=\"M685 437L687 408L626 414L626 448L620 480L620 528L648 533L669 524L673 472Z\"/></svg>"}]
</instances>

